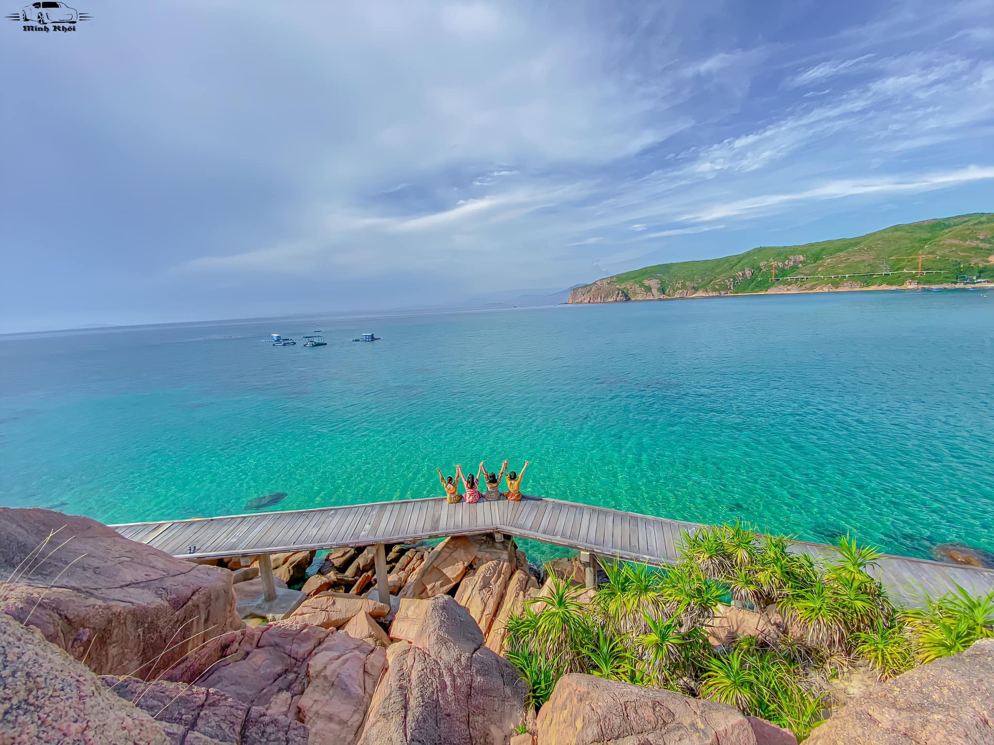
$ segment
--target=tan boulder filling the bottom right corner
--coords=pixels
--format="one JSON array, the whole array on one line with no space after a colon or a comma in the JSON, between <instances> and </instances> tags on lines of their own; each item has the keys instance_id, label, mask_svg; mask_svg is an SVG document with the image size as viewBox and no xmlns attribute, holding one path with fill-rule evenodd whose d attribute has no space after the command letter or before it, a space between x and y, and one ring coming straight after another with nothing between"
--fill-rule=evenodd
<instances>
[{"instance_id":1,"label":"tan boulder filling the bottom right corner","mask_svg":"<svg viewBox=\"0 0 994 745\"><path fill-rule=\"evenodd\" d=\"M861 693L818 725L809 745L994 743L994 639Z\"/></svg>"}]
</instances>

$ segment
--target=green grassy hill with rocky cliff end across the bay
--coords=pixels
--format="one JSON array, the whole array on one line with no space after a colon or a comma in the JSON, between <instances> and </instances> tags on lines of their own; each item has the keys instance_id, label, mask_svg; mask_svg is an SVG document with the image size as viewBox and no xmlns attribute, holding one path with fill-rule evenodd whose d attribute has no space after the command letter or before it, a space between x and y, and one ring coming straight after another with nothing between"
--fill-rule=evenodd
<instances>
[{"instance_id":1,"label":"green grassy hill with rocky cliff end across the bay","mask_svg":"<svg viewBox=\"0 0 994 745\"><path fill-rule=\"evenodd\" d=\"M929 272L920 277L916 276L919 253L922 270ZM569 302L884 289L910 280L951 284L959 274L994 280L994 214L926 220L855 238L762 246L724 258L646 266L579 287Z\"/></svg>"}]
</instances>

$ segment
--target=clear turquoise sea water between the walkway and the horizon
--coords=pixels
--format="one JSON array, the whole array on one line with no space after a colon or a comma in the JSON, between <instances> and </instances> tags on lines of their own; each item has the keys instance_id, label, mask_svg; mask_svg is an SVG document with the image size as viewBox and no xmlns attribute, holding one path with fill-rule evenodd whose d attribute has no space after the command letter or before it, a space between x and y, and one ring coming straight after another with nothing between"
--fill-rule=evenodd
<instances>
[{"instance_id":1,"label":"clear turquoise sea water between the walkway and the horizon","mask_svg":"<svg viewBox=\"0 0 994 745\"><path fill-rule=\"evenodd\" d=\"M327 347L273 348L323 330ZM351 339L363 331L374 344ZM994 296L840 293L0 338L0 504L104 522L524 491L994 550Z\"/></svg>"}]
</instances>

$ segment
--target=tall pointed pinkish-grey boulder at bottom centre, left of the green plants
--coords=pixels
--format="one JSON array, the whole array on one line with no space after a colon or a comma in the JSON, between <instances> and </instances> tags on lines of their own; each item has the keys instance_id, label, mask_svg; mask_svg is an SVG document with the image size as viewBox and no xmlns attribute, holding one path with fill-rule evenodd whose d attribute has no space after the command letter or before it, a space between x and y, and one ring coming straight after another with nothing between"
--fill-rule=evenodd
<instances>
[{"instance_id":1,"label":"tall pointed pinkish-grey boulder at bottom centre, left of the green plants","mask_svg":"<svg viewBox=\"0 0 994 745\"><path fill-rule=\"evenodd\" d=\"M525 717L518 672L483 646L479 627L452 598L404 602L420 604L423 623L413 643L387 651L359 742L506 745Z\"/></svg>"}]
</instances>

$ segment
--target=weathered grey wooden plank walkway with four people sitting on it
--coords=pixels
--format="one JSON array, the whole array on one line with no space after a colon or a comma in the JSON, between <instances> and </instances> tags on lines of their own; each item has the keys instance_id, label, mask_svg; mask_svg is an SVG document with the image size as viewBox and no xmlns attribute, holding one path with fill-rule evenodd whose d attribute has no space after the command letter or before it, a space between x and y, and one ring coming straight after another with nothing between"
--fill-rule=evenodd
<instances>
[{"instance_id":1,"label":"weathered grey wooden plank walkway with four people sitting on it","mask_svg":"<svg viewBox=\"0 0 994 745\"><path fill-rule=\"evenodd\" d=\"M677 559L680 531L699 525L526 497L521 502L481 500L475 505L449 505L443 498L406 500L225 518L132 522L113 527L127 538L181 558L404 543L499 531L598 556L668 564ZM190 546L196 546L196 550L189 552ZM828 546L797 542L794 548L817 557ZM875 572L892 597L911 605L916 604L922 588L931 594L954 590L954 584L974 594L994 590L991 569L887 556Z\"/></svg>"}]
</instances>

